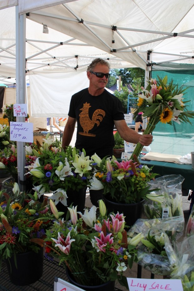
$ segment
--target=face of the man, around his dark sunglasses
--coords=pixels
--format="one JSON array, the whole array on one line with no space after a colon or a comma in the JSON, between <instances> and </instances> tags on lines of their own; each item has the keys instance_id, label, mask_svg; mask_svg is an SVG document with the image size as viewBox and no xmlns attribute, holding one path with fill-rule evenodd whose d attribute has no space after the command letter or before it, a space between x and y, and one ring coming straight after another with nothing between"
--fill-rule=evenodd
<instances>
[{"instance_id":1,"label":"face of the man, around his dark sunglasses","mask_svg":"<svg viewBox=\"0 0 194 291\"><path fill-rule=\"evenodd\" d=\"M96 65L93 69L95 73L109 73L109 68L106 65ZM108 83L108 78L105 76L102 78L97 77L96 75L92 74L91 72L87 72L88 79L90 80L90 87L94 89L103 89L106 84Z\"/></svg>"}]
</instances>

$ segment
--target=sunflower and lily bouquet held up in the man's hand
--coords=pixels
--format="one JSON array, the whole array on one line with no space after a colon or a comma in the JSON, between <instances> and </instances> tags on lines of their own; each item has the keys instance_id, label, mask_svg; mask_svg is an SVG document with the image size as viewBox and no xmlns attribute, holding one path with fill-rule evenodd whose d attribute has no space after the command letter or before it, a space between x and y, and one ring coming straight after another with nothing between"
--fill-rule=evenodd
<instances>
[{"instance_id":1,"label":"sunflower and lily bouquet held up in the man's hand","mask_svg":"<svg viewBox=\"0 0 194 291\"><path fill-rule=\"evenodd\" d=\"M183 86L173 84L173 80L167 83L167 76L162 80L158 77L150 79L148 86L138 94L138 103L133 114L133 119L137 117L139 112L143 112L143 117L148 117L148 125L143 134L153 132L158 122L172 124L172 121L180 124L181 122L188 122L191 124L189 118L194 118L192 111L186 110L189 101L183 101ZM133 154L139 156L143 146L138 143L133 151Z\"/></svg>"}]
</instances>

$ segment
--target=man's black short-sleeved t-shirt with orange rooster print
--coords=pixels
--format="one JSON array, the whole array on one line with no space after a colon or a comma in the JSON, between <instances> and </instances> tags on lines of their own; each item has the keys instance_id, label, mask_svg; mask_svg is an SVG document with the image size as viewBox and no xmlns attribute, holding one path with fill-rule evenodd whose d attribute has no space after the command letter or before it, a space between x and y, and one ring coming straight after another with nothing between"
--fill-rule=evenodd
<instances>
[{"instance_id":1,"label":"man's black short-sleeved t-shirt with orange rooster print","mask_svg":"<svg viewBox=\"0 0 194 291\"><path fill-rule=\"evenodd\" d=\"M71 97L68 115L77 119L75 147L85 149L90 157L111 156L114 147L114 120L123 120L123 106L120 100L107 90L92 96L88 88Z\"/></svg>"}]
</instances>

